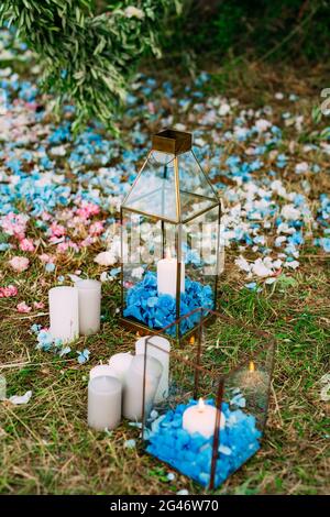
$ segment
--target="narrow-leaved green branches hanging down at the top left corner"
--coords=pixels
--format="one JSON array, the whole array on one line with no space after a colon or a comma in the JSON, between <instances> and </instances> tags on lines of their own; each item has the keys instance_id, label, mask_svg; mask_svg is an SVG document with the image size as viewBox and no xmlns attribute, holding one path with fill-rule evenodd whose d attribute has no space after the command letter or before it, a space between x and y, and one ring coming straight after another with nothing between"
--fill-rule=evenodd
<instances>
[{"instance_id":1,"label":"narrow-leaved green branches hanging down at the top left corner","mask_svg":"<svg viewBox=\"0 0 330 517\"><path fill-rule=\"evenodd\" d=\"M0 22L14 25L43 67L42 84L57 105L76 107L74 131L97 118L116 131L116 114L139 58L160 56L157 33L170 0L108 1L95 14L92 0L3 0Z\"/></svg>"}]
</instances>

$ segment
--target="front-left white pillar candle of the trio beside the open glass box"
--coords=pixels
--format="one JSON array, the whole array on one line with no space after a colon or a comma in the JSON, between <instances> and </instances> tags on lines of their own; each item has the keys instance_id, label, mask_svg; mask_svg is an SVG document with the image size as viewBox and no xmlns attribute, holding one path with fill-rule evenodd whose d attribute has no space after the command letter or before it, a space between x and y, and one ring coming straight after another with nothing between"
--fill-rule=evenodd
<instances>
[{"instance_id":1,"label":"front-left white pillar candle of the trio beside the open glass box","mask_svg":"<svg viewBox=\"0 0 330 517\"><path fill-rule=\"evenodd\" d=\"M110 376L95 377L88 383L88 426L101 431L114 429L121 420L122 385Z\"/></svg>"}]
</instances>

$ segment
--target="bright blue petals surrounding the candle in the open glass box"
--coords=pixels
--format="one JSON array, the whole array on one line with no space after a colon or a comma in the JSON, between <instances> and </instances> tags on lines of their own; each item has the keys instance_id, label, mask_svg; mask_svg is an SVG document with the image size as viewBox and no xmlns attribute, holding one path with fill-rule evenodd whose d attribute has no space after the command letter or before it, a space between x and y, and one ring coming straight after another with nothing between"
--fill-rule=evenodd
<instances>
[{"instance_id":1,"label":"bright blue petals surrounding the candle in the open glass box","mask_svg":"<svg viewBox=\"0 0 330 517\"><path fill-rule=\"evenodd\" d=\"M211 476L213 433L211 436L204 436L200 432L191 433L184 428L185 414L198 404L196 400L179 404L175 409L168 410L154 420L151 424L151 430L145 435L148 441L146 450L183 474L208 486ZM212 399L206 400L205 404L215 408ZM216 464L213 487L223 483L261 447L262 433L256 427L256 419L253 415L243 413L234 405L222 403L221 419L223 426L220 426L218 437L219 461Z\"/></svg>"}]
</instances>

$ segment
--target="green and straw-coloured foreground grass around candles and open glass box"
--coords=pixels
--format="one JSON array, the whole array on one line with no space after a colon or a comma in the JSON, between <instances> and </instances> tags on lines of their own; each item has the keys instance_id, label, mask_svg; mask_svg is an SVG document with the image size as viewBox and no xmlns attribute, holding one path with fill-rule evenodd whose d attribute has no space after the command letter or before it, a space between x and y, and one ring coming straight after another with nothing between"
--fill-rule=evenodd
<instances>
[{"instance_id":1,"label":"green and straw-coloured foreground grass around candles and open glass box","mask_svg":"<svg viewBox=\"0 0 330 517\"><path fill-rule=\"evenodd\" d=\"M324 273L300 274L296 282L295 289L278 287L264 296L239 290L230 275L223 279L226 312L270 330L278 339L278 348L263 448L218 491L220 494L328 491L329 408L319 400L319 378L327 372L329 359ZM107 293L103 306L111 299ZM8 307L1 324L6 337L1 358L8 363L30 356L32 364L6 372L9 395L32 389L33 397L26 406L0 406L0 493L170 494L183 487L202 493L180 475L167 482L169 469L145 454L141 444L136 450L125 449L125 440L136 437L125 424L111 438L89 430L86 398L90 365L37 353L29 332L31 319L11 315ZM95 358L107 360L116 351L129 350L134 337L109 315L100 336L81 341L78 349L87 344Z\"/></svg>"}]
</instances>

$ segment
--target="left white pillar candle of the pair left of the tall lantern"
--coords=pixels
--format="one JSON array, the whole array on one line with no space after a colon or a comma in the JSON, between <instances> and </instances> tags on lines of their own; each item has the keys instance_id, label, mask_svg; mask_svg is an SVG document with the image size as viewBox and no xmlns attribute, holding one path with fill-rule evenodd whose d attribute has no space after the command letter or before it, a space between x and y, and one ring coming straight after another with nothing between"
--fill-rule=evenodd
<instances>
[{"instance_id":1,"label":"left white pillar candle of the pair left of the tall lantern","mask_svg":"<svg viewBox=\"0 0 330 517\"><path fill-rule=\"evenodd\" d=\"M75 287L53 287L48 293L51 334L64 343L79 336L78 290Z\"/></svg>"}]
</instances>

